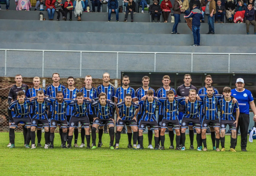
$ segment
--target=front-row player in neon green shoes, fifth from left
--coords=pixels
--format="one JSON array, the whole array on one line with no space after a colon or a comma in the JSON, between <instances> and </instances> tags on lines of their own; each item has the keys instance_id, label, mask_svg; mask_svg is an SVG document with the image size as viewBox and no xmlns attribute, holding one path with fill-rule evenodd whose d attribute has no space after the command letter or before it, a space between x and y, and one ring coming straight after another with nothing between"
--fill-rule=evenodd
<instances>
[{"instance_id":1,"label":"front-row player in neon green shoes, fifth from left","mask_svg":"<svg viewBox=\"0 0 256 176\"><path fill-rule=\"evenodd\" d=\"M92 149L97 148L96 147L96 129L99 126L103 126L106 123L109 127L110 149L114 149L113 143L115 138L115 131L114 131L115 124L114 124L114 117L111 114L111 109L115 107L115 103L110 100L107 100L106 93L101 92L99 94L99 100L94 101L92 103L92 107L94 107L95 112L97 114L97 117L94 118L94 122L92 124ZM99 135L99 141L100 140L101 139Z\"/></svg>"}]
</instances>

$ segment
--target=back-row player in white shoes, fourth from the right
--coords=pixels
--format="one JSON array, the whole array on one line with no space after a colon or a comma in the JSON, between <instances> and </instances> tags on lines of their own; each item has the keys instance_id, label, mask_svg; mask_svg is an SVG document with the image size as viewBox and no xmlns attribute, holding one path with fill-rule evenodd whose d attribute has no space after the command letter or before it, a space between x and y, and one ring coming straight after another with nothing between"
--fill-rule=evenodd
<instances>
[{"instance_id":1,"label":"back-row player in white shoes, fourth from the right","mask_svg":"<svg viewBox=\"0 0 256 176\"><path fill-rule=\"evenodd\" d=\"M154 96L155 96L155 90L148 86L148 84L149 84L148 76L143 76L142 84L143 84L142 87L140 87L136 90L136 101L140 100L142 97L147 95L148 90L154 91ZM139 126L142 112L143 112L143 109L142 109L142 105L141 105L140 110L137 115L137 125L138 126ZM153 131L150 130L150 128L148 127L148 148L150 148L150 149L153 149L152 138L153 138ZM138 144L137 148L140 148L140 144Z\"/></svg>"}]
</instances>

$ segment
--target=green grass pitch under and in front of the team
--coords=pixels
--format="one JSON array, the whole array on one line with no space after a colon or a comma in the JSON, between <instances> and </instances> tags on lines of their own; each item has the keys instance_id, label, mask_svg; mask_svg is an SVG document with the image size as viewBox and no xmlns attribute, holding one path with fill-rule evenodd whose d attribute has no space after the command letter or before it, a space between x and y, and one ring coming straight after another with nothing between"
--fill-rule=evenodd
<instances>
[{"instance_id":1,"label":"green grass pitch under and in front of the team","mask_svg":"<svg viewBox=\"0 0 256 176\"><path fill-rule=\"evenodd\" d=\"M189 148L188 135L186 139ZM128 149L126 134L121 135L119 150L109 149L108 134L103 134L102 148L95 150L62 149L58 133L55 133L54 149L24 148L21 132L15 132L16 148L7 148L8 142L9 133L1 132L0 175L256 175L256 141L248 142L248 152L242 152L240 136L237 152L213 151L211 136L207 136L207 152L168 149L168 135L165 136L165 150L148 149L147 134L144 134L144 150ZM229 142L230 136L226 136L226 149L229 149ZM44 133L41 143L44 144Z\"/></svg>"}]
</instances>

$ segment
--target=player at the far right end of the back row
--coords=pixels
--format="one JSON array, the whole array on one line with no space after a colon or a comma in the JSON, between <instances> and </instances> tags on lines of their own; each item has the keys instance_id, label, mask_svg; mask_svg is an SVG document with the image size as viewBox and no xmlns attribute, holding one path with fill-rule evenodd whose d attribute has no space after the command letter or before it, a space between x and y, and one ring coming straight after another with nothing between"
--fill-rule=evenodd
<instances>
[{"instance_id":1,"label":"player at the far right end of the back row","mask_svg":"<svg viewBox=\"0 0 256 176\"><path fill-rule=\"evenodd\" d=\"M211 75L207 75L205 76L205 86L201 87L200 89L198 89L197 94L207 94L206 88L210 85L212 85L212 76ZM219 94L218 90L216 88L213 87L213 94ZM202 121L202 117L204 116L204 112L203 112L203 106L200 107L200 120ZM212 148L213 150L216 150L216 146L215 146L215 130L212 127L212 124L209 125L210 127L210 132L211 132L211 138L212 138ZM202 146L202 142L201 142L201 146Z\"/></svg>"}]
</instances>

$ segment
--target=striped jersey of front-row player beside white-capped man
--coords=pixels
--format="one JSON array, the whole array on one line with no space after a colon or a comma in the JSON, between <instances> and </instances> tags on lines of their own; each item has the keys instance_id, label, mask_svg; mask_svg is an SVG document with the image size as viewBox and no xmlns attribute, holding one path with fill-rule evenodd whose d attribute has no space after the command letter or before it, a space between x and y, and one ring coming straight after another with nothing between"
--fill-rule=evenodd
<instances>
[{"instance_id":1,"label":"striped jersey of front-row player beside white-capped man","mask_svg":"<svg viewBox=\"0 0 256 176\"><path fill-rule=\"evenodd\" d=\"M238 102L232 103L232 100L226 101L224 97L218 101L220 105L220 119L221 120L236 120L233 116L235 109L239 109Z\"/></svg>"}]
</instances>

